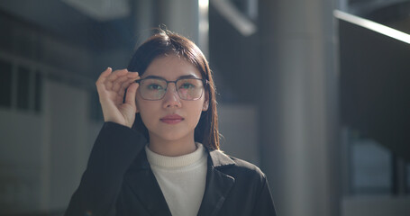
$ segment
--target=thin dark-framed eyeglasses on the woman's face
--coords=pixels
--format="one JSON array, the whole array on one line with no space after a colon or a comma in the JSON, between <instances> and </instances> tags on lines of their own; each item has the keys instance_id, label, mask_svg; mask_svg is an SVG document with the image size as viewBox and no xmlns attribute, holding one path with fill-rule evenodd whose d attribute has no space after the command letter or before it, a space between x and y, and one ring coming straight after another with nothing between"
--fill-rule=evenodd
<instances>
[{"instance_id":1,"label":"thin dark-framed eyeglasses on the woman's face","mask_svg":"<svg viewBox=\"0 0 410 216\"><path fill-rule=\"evenodd\" d=\"M175 81L168 81L159 77L147 77L135 82L140 84L138 91L142 99L145 100L161 100L167 93L168 84L174 83L179 98L186 101L195 101L201 98L204 93L204 85L207 83L207 80L200 78L178 78Z\"/></svg>"}]
</instances>

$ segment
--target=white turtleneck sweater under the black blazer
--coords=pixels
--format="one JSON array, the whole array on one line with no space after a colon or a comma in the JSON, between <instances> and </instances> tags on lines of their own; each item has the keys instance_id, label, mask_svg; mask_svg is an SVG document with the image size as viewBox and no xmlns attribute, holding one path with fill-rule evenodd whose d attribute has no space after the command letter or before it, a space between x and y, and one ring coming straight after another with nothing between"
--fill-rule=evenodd
<instances>
[{"instance_id":1,"label":"white turtleneck sweater under the black blazer","mask_svg":"<svg viewBox=\"0 0 410 216\"><path fill-rule=\"evenodd\" d=\"M201 143L196 151L167 157L145 147L150 167L172 215L196 215L205 192L207 154Z\"/></svg>"}]
</instances>

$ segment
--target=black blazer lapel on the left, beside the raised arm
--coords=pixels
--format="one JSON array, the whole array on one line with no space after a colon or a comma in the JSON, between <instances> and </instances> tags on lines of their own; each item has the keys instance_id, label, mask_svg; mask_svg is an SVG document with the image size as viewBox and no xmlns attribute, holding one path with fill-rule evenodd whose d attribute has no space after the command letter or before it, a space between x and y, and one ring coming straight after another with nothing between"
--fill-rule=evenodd
<instances>
[{"instance_id":1,"label":"black blazer lapel on the left, beside the raised arm","mask_svg":"<svg viewBox=\"0 0 410 216\"><path fill-rule=\"evenodd\" d=\"M133 193L147 208L150 215L172 216L157 179L150 169L145 150L142 150L141 154L136 157L124 181L130 185Z\"/></svg>"}]
</instances>

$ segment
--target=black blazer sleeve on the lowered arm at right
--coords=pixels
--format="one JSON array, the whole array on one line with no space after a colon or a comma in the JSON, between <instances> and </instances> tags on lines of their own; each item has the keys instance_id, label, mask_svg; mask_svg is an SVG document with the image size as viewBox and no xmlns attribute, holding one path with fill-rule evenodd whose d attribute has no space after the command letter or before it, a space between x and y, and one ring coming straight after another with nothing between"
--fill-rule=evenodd
<instances>
[{"instance_id":1,"label":"black blazer sleeve on the lowered arm at right","mask_svg":"<svg viewBox=\"0 0 410 216\"><path fill-rule=\"evenodd\" d=\"M273 203L272 195L270 193L268 179L265 175L261 179L261 190L257 198L256 204L253 208L252 215L254 216L276 216L275 205Z\"/></svg>"}]
</instances>

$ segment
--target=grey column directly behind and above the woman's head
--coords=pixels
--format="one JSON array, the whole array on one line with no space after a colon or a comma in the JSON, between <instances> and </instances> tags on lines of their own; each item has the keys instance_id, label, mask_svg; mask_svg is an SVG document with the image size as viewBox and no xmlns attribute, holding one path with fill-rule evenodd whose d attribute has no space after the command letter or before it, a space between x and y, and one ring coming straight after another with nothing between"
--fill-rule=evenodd
<instances>
[{"instance_id":1,"label":"grey column directly behind and above the woman's head","mask_svg":"<svg viewBox=\"0 0 410 216\"><path fill-rule=\"evenodd\" d=\"M209 0L141 0L132 4L140 42L150 36L152 28L165 24L170 31L193 40L208 56Z\"/></svg>"}]
</instances>

